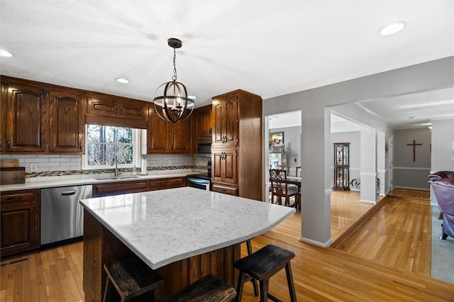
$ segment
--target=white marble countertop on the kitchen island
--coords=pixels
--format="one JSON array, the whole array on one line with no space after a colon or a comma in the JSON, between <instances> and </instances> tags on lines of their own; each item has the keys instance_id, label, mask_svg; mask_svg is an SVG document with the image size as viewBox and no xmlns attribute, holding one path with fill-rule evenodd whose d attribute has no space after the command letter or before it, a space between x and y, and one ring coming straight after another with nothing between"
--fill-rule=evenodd
<instances>
[{"instance_id":1,"label":"white marble countertop on the kitchen island","mask_svg":"<svg viewBox=\"0 0 454 302\"><path fill-rule=\"evenodd\" d=\"M295 211L191 187L80 203L152 269L249 240Z\"/></svg>"}]
</instances>

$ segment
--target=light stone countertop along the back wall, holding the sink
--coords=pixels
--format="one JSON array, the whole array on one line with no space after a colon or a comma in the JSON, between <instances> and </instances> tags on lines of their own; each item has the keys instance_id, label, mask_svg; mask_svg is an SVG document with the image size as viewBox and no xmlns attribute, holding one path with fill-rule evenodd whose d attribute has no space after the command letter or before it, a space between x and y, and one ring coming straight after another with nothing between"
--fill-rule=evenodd
<instances>
[{"instance_id":1,"label":"light stone countertop along the back wall, holding the sink","mask_svg":"<svg viewBox=\"0 0 454 302\"><path fill-rule=\"evenodd\" d=\"M4 191L18 191L26 189L44 189L54 188L57 186L79 186L83 184L104 184L109 182L118 181L138 181L143 179L160 179L160 178L172 178L172 177L186 177L189 174L196 174L191 169L182 170L164 170L150 173L148 175L135 175L127 176L121 175L120 177L128 177L121 179L112 179L112 177L94 177L90 174L77 174L72 176L62 177L42 177L43 181L26 181L25 184L4 184L0 186L0 192ZM201 172L200 172L201 173ZM134 178L133 178L134 177Z\"/></svg>"}]
</instances>

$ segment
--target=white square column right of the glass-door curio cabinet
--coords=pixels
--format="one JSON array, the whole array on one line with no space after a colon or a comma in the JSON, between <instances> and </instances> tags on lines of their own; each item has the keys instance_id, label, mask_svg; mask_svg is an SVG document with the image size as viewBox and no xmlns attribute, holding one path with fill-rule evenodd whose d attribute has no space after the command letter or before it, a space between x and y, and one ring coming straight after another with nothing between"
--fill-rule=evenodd
<instances>
[{"instance_id":1,"label":"white square column right of the glass-door curio cabinet","mask_svg":"<svg viewBox=\"0 0 454 302\"><path fill-rule=\"evenodd\" d=\"M373 128L360 131L360 201L377 203L377 133Z\"/></svg>"}]
</instances>

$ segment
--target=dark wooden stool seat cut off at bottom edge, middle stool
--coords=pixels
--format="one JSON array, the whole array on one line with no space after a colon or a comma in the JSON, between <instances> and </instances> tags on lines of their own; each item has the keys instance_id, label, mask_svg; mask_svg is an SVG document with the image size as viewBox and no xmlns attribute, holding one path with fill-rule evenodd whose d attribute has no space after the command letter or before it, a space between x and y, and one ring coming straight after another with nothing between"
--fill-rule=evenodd
<instances>
[{"instance_id":1,"label":"dark wooden stool seat cut off at bottom edge, middle stool","mask_svg":"<svg viewBox=\"0 0 454 302\"><path fill-rule=\"evenodd\" d=\"M223 302L236 297L233 287L207 275L160 302Z\"/></svg>"}]
</instances>

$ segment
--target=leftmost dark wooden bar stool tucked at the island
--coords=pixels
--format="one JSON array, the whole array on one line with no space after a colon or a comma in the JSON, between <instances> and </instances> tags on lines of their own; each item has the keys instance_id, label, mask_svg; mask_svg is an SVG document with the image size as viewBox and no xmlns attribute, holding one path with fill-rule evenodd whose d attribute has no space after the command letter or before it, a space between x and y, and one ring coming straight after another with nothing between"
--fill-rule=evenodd
<instances>
[{"instance_id":1,"label":"leftmost dark wooden bar stool tucked at the island","mask_svg":"<svg viewBox=\"0 0 454 302\"><path fill-rule=\"evenodd\" d=\"M164 279L138 257L124 257L106 262L104 270L107 280L103 301L106 301L109 283L114 284L122 302L148 291L153 291L155 301L159 300L159 286L164 283Z\"/></svg>"}]
</instances>

